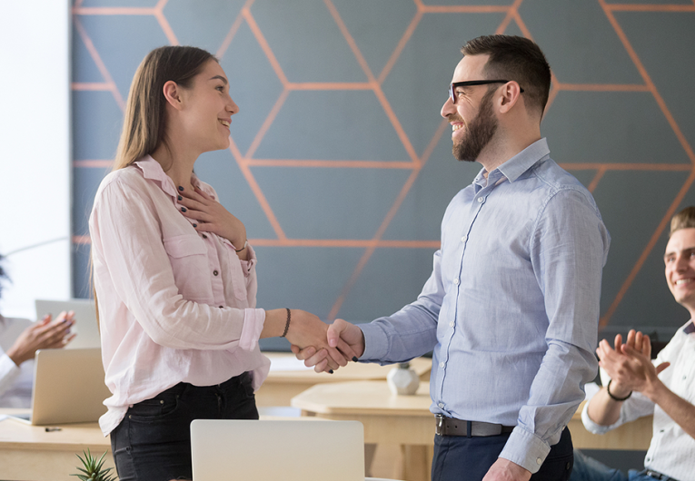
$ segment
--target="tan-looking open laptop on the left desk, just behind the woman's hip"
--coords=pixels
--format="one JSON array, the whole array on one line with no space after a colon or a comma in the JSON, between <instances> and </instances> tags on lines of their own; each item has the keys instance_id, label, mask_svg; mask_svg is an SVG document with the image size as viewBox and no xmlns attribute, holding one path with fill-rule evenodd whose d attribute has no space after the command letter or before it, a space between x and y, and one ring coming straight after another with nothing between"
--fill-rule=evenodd
<instances>
[{"instance_id":1,"label":"tan-looking open laptop on the left desk, just behind the woman's hip","mask_svg":"<svg viewBox=\"0 0 695 481\"><path fill-rule=\"evenodd\" d=\"M101 349L36 351L31 417L33 425L96 422L106 412Z\"/></svg>"}]
</instances>

